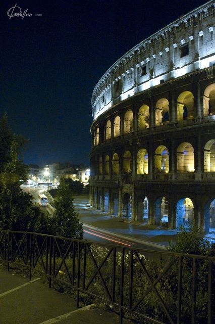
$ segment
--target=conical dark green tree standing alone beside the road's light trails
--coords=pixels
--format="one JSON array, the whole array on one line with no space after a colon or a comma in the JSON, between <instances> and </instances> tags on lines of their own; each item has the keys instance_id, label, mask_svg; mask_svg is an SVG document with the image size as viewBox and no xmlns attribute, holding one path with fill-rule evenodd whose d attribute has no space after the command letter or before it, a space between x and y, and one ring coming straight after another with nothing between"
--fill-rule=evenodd
<instances>
[{"instance_id":1,"label":"conical dark green tree standing alone beside the road's light trails","mask_svg":"<svg viewBox=\"0 0 215 324\"><path fill-rule=\"evenodd\" d=\"M56 211L53 215L52 228L58 236L82 239L82 223L79 222L78 213L74 211L73 200L73 191L65 179L62 179L55 198Z\"/></svg>"}]
</instances>

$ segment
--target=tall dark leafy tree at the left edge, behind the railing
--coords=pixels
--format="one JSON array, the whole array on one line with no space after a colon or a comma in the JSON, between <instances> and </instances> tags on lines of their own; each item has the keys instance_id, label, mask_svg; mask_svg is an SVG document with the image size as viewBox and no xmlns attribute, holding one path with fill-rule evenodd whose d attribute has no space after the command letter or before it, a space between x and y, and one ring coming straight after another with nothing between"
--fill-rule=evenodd
<instances>
[{"instance_id":1,"label":"tall dark leafy tree at the left edge, behind the railing","mask_svg":"<svg viewBox=\"0 0 215 324\"><path fill-rule=\"evenodd\" d=\"M0 120L0 228L44 233L47 216L20 189L26 177L20 158L24 143L22 136L12 133L5 114Z\"/></svg>"}]
</instances>

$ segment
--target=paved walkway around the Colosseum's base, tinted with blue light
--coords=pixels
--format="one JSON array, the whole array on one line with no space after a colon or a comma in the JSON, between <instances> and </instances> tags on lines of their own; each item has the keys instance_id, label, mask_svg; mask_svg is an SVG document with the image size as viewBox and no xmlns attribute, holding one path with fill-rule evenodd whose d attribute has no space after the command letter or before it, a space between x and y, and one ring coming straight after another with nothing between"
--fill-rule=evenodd
<instances>
[{"instance_id":1,"label":"paved walkway around the Colosseum's base, tinted with blue light","mask_svg":"<svg viewBox=\"0 0 215 324\"><path fill-rule=\"evenodd\" d=\"M135 242L151 245L154 247L166 248L169 242L177 241L177 232L171 229L164 229L158 225L144 225L143 223L131 223L127 219L107 215L107 213L94 210L88 204L88 196L76 196L74 206L79 213L80 221L84 224L99 228L105 233L114 233L119 238L127 237Z\"/></svg>"}]
</instances>

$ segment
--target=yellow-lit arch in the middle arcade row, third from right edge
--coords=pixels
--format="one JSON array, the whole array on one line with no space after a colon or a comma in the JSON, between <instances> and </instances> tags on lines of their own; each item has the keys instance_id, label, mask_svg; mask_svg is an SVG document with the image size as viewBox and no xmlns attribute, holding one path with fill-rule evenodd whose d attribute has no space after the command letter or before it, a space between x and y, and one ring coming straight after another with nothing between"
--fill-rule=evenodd
<instances>
[{"instance_id":1,"label":"yellow-lit arch in the middle arcade row, third from right edge","mask_svg":"<svg viewBox=\"0 0 215 324\"><path fill-rule=\"evenodd\" d=\"M158 146L154 154L155 172L169 172L169 152L164 145Z\"/></svg>"}]
</instances>

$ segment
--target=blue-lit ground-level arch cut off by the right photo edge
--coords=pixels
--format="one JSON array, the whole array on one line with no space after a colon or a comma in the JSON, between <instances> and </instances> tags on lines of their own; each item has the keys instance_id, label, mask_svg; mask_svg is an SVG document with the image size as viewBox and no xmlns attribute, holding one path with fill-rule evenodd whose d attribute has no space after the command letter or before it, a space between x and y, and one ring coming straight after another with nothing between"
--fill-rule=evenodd
<instances>
[{"instance_id":1,"label":"blue-lit ground-level arch cut off by the right photo edge","mask_svg":"<svg viewBox=\"0 0 215 324\"><path fill-rule=\"evenodd\" d=\"M215 238L215 199L209 200L204 206L204 232Z\"/></svg>"}]
</instances>

